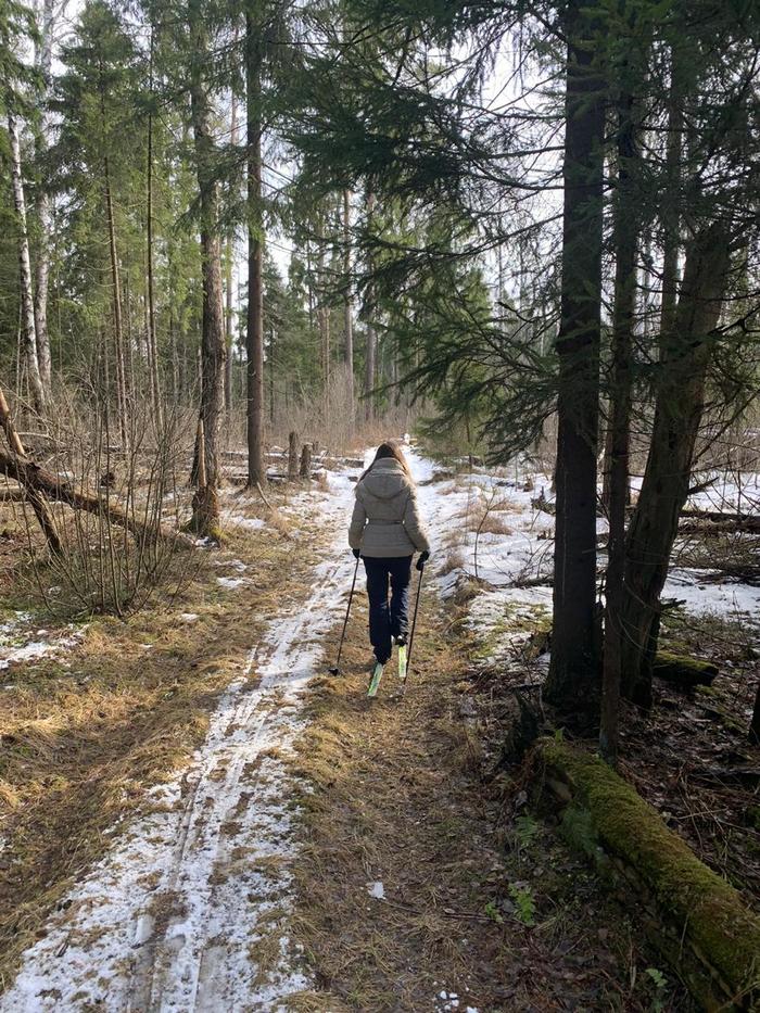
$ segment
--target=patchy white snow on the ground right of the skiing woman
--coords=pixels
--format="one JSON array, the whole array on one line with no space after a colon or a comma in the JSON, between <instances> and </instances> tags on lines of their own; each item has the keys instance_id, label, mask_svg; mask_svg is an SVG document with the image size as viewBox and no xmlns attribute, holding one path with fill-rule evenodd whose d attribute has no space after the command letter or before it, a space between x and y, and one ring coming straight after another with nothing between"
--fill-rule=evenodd
<instances>
[{"instance_id":1,"label":"patchy white snow on the ground right of the skiing woman","mask_svg":"<svg viewBox=\"0 0 760 1013\"><path fill-rule=\"evenodd\" d=\"M431 562L439 590L444 598L452 597L477 577L480 593L469 604L468 623L485 645L485 660L508 657L546 626L552 611L555 522L536 505L542 491L550 498L550 477L522 469L477 469L436 481L446 469L409 453L423 512L434 532ZM724 512L738 506L743 512L760 512L760 476L698 477L699 482L708 479L714 479L712 485L695 494L691 506ZM597 530L607 530L604 518ZM705 570L673 569L663 596L683 602L694 615L758 621L760 587L711 577Z\"/></svg>"}]
</instances>

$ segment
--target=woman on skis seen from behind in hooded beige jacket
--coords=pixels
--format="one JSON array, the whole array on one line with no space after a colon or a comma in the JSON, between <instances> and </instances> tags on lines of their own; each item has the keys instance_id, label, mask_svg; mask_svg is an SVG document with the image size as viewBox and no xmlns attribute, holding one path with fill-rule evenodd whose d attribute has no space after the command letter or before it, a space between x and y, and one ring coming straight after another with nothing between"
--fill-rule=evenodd
<instances>
[{"instance_id":1,"label":"woman on skis seen from behind in hooded beige jacket","mask_svg":"<svg viewBox=\"0 0 760 1013\"><path fill-rule=\"evenodd\" d=\"M373 695L394 640L400 648L398 670L405 675L411 558L416 552L421 554L418 570L430 558L414 479L395 442L380 444L356 485L349 544L357 559L362 556L367 571L369 642L377 659L369 691Z\"/></svg>"}]
</instances>

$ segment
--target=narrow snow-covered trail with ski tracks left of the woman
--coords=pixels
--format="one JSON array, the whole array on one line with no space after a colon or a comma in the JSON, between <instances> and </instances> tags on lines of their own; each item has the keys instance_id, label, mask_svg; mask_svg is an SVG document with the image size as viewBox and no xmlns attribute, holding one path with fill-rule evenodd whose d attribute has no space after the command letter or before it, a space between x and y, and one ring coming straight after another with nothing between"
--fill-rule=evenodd
<instances>
[{"instance_id":1,"label":"narrow snow-covered trail with ski tracks left of the woman","mask_svg":"<svg viewBox=\"0 0 760 1013\"><path fill-rule=\"evenodd\" d=\"M284 928L294 843L281 756L353 568L353 485L345 476L331 484L321 508L330 539L308 600L270 620L190 769L151 793L149 810L65 898L1 1013L275 1011L308 988Z\"/></svg>"}]
</instances>

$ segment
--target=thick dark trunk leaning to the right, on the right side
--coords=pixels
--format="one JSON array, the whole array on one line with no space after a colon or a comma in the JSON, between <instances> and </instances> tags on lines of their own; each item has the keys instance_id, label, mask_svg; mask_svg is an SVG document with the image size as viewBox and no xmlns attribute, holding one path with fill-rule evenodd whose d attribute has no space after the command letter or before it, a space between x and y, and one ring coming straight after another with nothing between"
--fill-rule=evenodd
<instances>
[{"instance_id":1,"label":"thick dark trunk leaning to the right, on the right side","mask_svg":"<svg viewBox=\"0 0 760 1013\"><path fill-rule=\"evenodd\" d=\"M651 444L625 548L623 693L642 707L651 704L660 594L688 496L727 271L726 231L713 223L689 243L673 329L662 335Z\"/></svg>"}]
</instances>

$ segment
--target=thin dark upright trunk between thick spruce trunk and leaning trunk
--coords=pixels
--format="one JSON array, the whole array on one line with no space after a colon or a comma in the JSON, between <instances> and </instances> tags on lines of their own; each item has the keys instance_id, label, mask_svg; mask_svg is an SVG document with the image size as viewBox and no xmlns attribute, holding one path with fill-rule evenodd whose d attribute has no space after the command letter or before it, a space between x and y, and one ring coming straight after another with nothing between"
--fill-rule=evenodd
<instances>
[{"instance_id":1,"label":"thin dark upright trunk between thick spruce trunk and leaning trunk","mask_svg":"<svg viewBox=\"0 0 760 1013\"><path fill-rule=\"evenodd\" d=\"M605 641L603 655L599 749L616 765L618 759L622 660L625 507L629 491L633 328L636 305L636 254L641 230L637 210L636 103L623 96L618 114L618 189L615 204L615 308L612 317L612 383L608 421L609 472Z\"/></svg>"}]
</instances>

